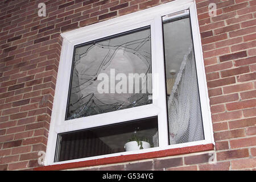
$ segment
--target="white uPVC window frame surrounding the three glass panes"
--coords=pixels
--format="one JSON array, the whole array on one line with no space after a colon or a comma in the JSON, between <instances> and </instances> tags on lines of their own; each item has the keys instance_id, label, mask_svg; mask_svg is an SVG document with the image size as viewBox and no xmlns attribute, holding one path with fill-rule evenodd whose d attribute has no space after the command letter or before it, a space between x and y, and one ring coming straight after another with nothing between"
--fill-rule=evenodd
<instances>
[{"instance_id":1,"label":"white uPVC window frame surrounding the three glass panes","mask_svg":"<svg viewBox=\"0 0 256 182\"><path fill-rule=\"evenodd\" d=\"M197 80L199 85L201 114L203 118L204 140L168 145L167 129L167 106L166 106L166 86L164 75L164 47L162 17L168 14L189 9L193 48L195 52ZM151 62L152 62L152 104L112 111L109 113L90 115L88 117L76 118L65 121L65 111L67 109L67 99L69 90L69 80L71 76L73 49L77 44L90 42L92 40L105 38L107 36L134 30L136 28L150 25L151 28ZM78 28L77 30L61 34L63 46L61 49L59 71L53 102L51 125L47 143L46 158L44 165L63 164L80 162L84 160L108 158L111 156L142 154L152 151L167 150L170 148L180 148L196 146L200 144L214 144L210 105L205 77L203 51L199 23L197 20L196 3L193 0L179 0L165 3L163 5L151 7L136 13L123 15L118 18L106 20L104 22L92 24L90 26ZM156 61L157 60L157 61ZM158 73L155 77L154 73ZM147 148L138 151L126 151L115 154L92 156L88 158L66 160L54 162L57 134L68 131L89 129L91 127L110 125L113 123L132 121L135 119L158 116L159 147ZM104 122L102 122L104 118Z\"/></svg>"}]
</instances>

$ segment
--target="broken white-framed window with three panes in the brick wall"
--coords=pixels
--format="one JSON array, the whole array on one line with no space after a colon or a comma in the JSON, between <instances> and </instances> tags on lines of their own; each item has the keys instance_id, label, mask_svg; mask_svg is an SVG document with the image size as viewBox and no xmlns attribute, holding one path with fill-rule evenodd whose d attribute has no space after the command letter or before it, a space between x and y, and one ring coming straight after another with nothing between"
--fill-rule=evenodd
<instances>
[{"instance_id":1,"label":"broken white-framed window with three panes in the brick wall","mask_svg":"<svg viewBox=\"0 0 256 182\"><path fill-rule=\"evenodd\" d=\"M46 165L214 143L193 1L62 36Z\"/></svg>"}]
</instances>

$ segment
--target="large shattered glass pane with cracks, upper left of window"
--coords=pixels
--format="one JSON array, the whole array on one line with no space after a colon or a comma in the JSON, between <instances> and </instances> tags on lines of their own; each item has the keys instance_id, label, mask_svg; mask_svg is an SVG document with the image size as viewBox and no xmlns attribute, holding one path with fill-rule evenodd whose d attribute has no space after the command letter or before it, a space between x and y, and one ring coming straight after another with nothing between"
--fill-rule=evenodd
<instances>
[{"instance_id":1,"label":"large shattered glass pane with cracks, upper left of window","mask_svg":"<svg viewBox=\"0 0 256 182\"><path fill-rule=\"evenodd\" d=\"M151 104L150 27L75 46L66 120Z\"/></svg>"}]
</instances>

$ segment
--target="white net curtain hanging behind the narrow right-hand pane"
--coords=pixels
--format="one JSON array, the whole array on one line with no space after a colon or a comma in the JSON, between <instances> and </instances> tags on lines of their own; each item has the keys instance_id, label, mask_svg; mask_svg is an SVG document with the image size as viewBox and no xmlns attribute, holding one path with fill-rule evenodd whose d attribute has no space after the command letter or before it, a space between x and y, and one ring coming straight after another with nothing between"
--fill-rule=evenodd
<instances>
[{"instance_id":1,"label":"white net curtain hanging behind the narrow right-hand pane","mask_svg":"<svg viewBox=\"0 0 256 182\"><path fill-rule=\"evenodd\" d=\"M181 63L167 106L170 144L204 139L192 47Z\"/></svg>"}]
</instances>

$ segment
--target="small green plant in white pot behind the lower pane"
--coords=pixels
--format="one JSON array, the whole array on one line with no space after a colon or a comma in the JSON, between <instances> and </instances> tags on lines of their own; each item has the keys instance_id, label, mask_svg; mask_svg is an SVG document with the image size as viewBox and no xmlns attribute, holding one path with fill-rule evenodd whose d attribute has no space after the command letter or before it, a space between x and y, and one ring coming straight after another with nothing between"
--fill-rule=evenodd
<instances>
[{"instance_id":1,"label":"small green plant in white pot behind the lower pane","mask_svg":"<svg viewBox=\"0 0 256 182\"><path fill-rule=\"evenodd\" d=\"M138 137L136 132L134 132L125 144L125 151L141 150L143 148L150 148L149 139L146 137Z\"/></svg>"}]
</instances>

